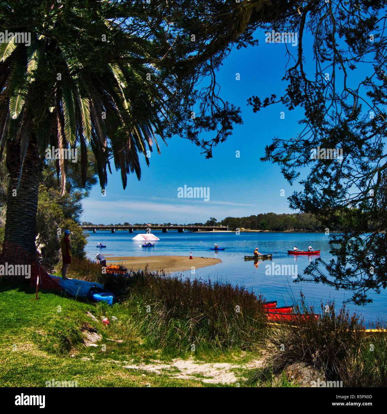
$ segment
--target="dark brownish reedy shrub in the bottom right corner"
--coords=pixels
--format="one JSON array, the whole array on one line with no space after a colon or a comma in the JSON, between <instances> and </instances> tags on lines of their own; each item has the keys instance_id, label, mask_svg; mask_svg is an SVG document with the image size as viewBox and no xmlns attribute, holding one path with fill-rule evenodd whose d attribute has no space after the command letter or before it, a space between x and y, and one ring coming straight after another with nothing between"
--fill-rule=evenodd
<instances>
[{"instance_id":1,"label":"dark brownish reedy shrub in the bottom right corner","mask_svg":"<svg viewBox=\"0 0 387 414\"><path fill-rule=\"evenodd\" d=\"M336 313L334 302L326 306L321 303L320 318L315 319L313 307L301 298L294 313L305 315L305 319L286 321L269 332L272 355L267 366L275 374L303 362L322 373L326 380L343 381L344 386L386 386L385 334L373 334L375 349L370 351L372 334L365 331L363 319L350 315L345 305ZM257 370L250 380L260 376Z\"/></svg>"}]
</instances>

